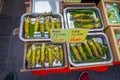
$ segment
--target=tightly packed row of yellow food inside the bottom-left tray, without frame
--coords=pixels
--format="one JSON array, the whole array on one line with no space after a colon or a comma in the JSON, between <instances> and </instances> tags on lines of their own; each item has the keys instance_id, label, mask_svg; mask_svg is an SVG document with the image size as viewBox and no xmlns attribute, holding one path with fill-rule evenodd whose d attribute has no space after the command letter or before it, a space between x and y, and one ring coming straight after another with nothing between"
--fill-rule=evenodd
<instances>
[{"instance_id":1,"label":"tightly packed row of yellow food inside the bottom-left tray, without frame","mask_svg":"<svg viewBox=\"0 0 120 80\"><path fill-rule=\"evenodd\" d=\"M62 43L29 44L26 50L26 67L51 68L65 65Z\"/></svg>"}]
</instances>

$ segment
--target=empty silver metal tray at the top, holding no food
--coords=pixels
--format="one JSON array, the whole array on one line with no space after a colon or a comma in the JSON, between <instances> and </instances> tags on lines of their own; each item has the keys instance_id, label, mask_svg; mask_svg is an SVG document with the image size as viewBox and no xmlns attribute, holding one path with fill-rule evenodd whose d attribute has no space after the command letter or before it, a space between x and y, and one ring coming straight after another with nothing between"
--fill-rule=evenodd
<instances>
[{"instance_id":1,"label":"empty silver metal tray at the top, holding no food","mask_svg":"<svg viewBox=\"0 0 120 80\"><path fill-rule=\"evenodd\" d=\"M31 0L30 1L30 12L42 13L50 12L60 13L61 0Z\"/></svg>"}]
</instances>

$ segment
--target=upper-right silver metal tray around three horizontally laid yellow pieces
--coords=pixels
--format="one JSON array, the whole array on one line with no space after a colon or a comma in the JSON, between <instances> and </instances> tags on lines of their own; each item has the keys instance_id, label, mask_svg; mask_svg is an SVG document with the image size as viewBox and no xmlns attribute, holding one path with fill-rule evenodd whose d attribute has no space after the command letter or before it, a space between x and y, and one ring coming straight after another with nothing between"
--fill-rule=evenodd
<instances>
[{"instance_id":1,"label":"upper-right silver metal tray around three horizontally laid yellow pieces","mask_svg":"<svg viewBox=\"0 0 120 80\"><path fill-rule=\"evenodd\" d=\"M68 28L68 29L74 28L74 23L73 23L74 20L70 19L70 17L71 17L70 11L75 11L75 10L94 10L93 16L94 16L94 18L100 19L100 28L93 28L93 29L90 29L89 31L90 32L102 31L104 29L104 25L103 25L103 21L102 21L99 9L96 7L91 7L91 6L90 7L67 7L67 8L65 8L64 9L64 20L65 20L66 28Z\"/></svg>"}]
</instances>

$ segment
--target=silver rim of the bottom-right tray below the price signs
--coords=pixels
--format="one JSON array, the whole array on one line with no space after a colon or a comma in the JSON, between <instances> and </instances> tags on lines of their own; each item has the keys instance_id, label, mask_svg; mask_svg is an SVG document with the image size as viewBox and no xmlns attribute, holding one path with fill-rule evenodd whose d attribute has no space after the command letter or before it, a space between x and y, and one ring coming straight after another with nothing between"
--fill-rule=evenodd
<instances>
[{"instance_id":1,"label":"silver rim of the bottom-right tray below the price signs","mask_svg":"<svg viewBox=\"0 0 120 80\"><path fill-rule=\"evenodd\" d=\"M109 54L110 54L110 57L111 59L109 61L101 61L101 62L90 62L90 63L80 63L80 64L75 64L72 59L71 59L71 55L70 55L70 49L69 49L69 43L67 43L67 51L68 51L68 61L70 62L70 64L74 67L83 67L83 66L96 66L96 65L101 65L101 64L110 64L113 62L113 54L112 54L112 51L111 51L111 48L110 48L110 44L109 44L109 41L108 41L108 38L107 36L104 34L104 33L88 33L88 35L103 35L106 39L106 44L107 44L107 47L108 47L108 50L109 50Z\"/></svg>"}]
</instances>

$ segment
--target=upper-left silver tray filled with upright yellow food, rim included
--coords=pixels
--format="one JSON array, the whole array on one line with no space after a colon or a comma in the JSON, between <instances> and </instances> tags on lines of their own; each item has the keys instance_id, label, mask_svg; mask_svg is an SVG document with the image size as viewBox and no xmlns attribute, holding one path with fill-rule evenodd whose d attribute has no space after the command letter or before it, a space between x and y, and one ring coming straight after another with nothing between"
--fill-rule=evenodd
<instances>
[{"instance_id":1,"label":"upper-left silver tray filled with upright yellow food, rim included","mask_svg":"<svg viewBox=\"0 0 120 80\"><path fill-rule=\"evenodd\" d=\"M57 13L26 13L21 17L19 37L23 41L50 41L50 29L63 29Z\"/></svg>"}]
</instances>

